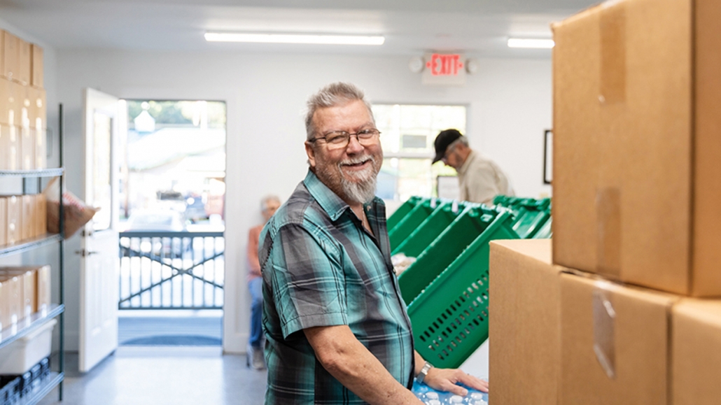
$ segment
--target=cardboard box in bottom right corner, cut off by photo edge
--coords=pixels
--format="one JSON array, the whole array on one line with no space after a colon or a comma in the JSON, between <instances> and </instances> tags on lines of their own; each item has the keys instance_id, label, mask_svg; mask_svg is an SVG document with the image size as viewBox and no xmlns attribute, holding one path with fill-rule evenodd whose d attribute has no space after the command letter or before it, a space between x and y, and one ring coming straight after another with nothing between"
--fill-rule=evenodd
<instances>
[{"instance_id":1,"label":"cardboard box in bottom right corner, cut off by photo edge","mask_svg":"<svg viewBox=\"0 0 721 405\"><path fill-rule=\"evenodd\" d=\"M721 398L721 301L684 300L673 308L673 404Z\"/></svg>"}]
</instances>

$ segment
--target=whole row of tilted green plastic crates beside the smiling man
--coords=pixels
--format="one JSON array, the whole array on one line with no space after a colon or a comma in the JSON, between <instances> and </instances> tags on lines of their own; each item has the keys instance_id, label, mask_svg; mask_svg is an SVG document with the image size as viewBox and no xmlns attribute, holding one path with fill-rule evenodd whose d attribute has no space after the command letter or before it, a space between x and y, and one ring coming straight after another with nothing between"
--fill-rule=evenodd
<instances>
[{"instance_id":1,"label":"whole row of tilted green plastic crates beside the smiling man","mask_svg":"<svg viewBox=\"0 0 721 405\"><path fill-rule=\"evenodd\" d=\"M416 350L457 368L488 339L488 254L495 239L550 238L550 199L498 196L494 207L412 197L389 218L392 254Z\"/></svg>"}]
</instances>

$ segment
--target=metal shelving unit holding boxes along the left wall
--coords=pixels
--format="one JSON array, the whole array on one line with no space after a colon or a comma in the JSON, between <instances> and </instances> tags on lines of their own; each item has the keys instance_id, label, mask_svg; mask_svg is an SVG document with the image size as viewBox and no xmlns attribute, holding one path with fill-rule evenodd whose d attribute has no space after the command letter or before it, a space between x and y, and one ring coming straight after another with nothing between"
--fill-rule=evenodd
<instances>
[{"instance_id":1,"label":"metal shelving unit holding boxes along the left wall","mask_svg":"<svg viewBox=\"0 0 721 405\"><path fill-rule=\"evenodd\" d=\"M17 339L24 337L32 331L43 326L50 319L58 318L60 344L58 353L58 371L52 372L47 377L35 386L29 393L23 396L17 405L34 405L40 402L45 396L58 387L58 400L63 400L63 380L65 379L65 235L63 230L65 229L64 224L64 209L63 209L63 177L65 170L63 169L63 105L60 104L60 131L59 131L59 150L60 150L60 167L53 169L37 169L37 170L0 170L0 177L16 177L22 178L23 193L27 193L30 182L35 182L37 188L40 188L40 179L45 177L60 177L60 195L58 196L59 211L58 217L60 223L58 229L60 233L57 234L46 234L43 237L22 241L21 243L12 244L8 246L0 246L0 257L6 257L13 254L20 254L22 252L30 252L34 249L38 249L42 246L48 246L50 244L60 244L58 249L58 272L59 272L59 295L58 303L54 303L50 306L48 311L44 313L33 313L28 319L20 320L17 325L9 326L0 331L0 349L6 347ZM54 269L53 269L54 270Z\"/></svg>"}]
</instances>

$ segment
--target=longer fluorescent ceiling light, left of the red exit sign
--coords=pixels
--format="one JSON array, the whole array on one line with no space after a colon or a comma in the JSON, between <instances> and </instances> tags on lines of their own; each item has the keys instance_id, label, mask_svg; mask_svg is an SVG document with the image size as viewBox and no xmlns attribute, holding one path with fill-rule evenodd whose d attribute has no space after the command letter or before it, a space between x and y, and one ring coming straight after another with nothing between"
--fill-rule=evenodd
<instances>
[{"instance_id":1,"label":"longer fluorescent ceiling light, left of the red exit sign","mask_svg":"<svg viewBox=\"0 0 721 405\"><path fill-rule=\"evenodd\" d=\"M304 43L324 45L383 45L380 35L306 35L306 34L250 34L241 32L205 32L208 42L226 43Z\"/></svg>"}]
</instances>

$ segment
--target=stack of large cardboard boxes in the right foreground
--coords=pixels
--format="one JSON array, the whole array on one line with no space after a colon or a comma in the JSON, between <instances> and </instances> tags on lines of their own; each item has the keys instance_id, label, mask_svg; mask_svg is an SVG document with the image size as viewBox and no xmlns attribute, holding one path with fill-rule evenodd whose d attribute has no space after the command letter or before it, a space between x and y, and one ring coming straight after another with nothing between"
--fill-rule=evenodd
<instances>
[{"instance_id":1,"label":"stack of large cardboard boxes in the right foreground","mask_svg":"<svg viewBox=\"0 0 721 405\"><path fill-rule=\"evenodd\" d=\"M554 25L554 241L492 244L492 401L719 403L720 19L616 0Z\"/></svg>"}]
</instances>

